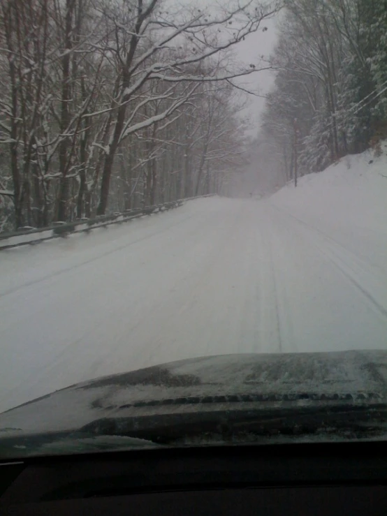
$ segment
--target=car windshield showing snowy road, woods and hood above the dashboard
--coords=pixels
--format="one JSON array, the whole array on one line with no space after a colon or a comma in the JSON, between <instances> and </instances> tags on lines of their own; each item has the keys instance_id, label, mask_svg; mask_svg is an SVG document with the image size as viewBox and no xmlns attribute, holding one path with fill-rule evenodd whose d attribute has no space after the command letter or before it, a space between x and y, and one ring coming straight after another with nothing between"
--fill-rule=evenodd
<instances>
[{"instance_id":1,"label":"car windshield showing snowy road, woods and hood above the dashboard","mask_svg":"<svg viewBox=\"0 0 387 516\"><path fill-rule=\"evenodd\" d=\"M0 9L0 459L385 438L382 3Z\"/></svg>"}]
</instances>

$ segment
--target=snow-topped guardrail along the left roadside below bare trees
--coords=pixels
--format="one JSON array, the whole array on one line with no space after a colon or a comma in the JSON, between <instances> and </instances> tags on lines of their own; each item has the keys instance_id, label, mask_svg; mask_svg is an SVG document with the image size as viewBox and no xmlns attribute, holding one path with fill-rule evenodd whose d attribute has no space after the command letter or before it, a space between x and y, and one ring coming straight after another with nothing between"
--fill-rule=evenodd
<instances>
[{"instance_id":1,"label":"snow-topped guardrail along the left roadside below bare trees","mask_svg":"<svg viewBox=\"0 0 387 516\"><path fill-rule=\"evenodd\" d=\"M44 242L45 240L53 238L66 237L72 233L89 233L89 231L93 229L131 221L132 219L138 219L140 216L166 212L168 209L177 208L183 205L187 200L212 196L214 196L214 194L209 193L205 196L189 197L170 202L163 202L163 204L154 206L128 209L122 213L101 215L94 219L78 219L73 222L57 222L47 228L20 228L20 230L14 231L13 233L0 233L0 251L28 244L38 244L39 242Z\"/></svg>"}]
</instances>

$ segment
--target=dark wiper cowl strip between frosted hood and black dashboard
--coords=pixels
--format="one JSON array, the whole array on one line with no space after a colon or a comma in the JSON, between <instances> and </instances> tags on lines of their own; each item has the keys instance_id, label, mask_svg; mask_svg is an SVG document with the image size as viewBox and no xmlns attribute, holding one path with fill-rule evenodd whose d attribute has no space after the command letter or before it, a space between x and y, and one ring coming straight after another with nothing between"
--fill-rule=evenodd
<instances>
[{"instance_id":1,"label":"dark wiper cowl strip between frosted hood and black dashboard","mask_svg":"<svg viewBox=\"0 0 387 516\"><path fill-rule=\"evenodd\" d=\"M235 407L235 406L234 406ZM0 457L68 455L159 445L249 444L289 439L387 437L386 404L173 411L100 418L68 432L0 439ZM176 408L176 407L175 407Z\"/></svg>"}]
</instances>

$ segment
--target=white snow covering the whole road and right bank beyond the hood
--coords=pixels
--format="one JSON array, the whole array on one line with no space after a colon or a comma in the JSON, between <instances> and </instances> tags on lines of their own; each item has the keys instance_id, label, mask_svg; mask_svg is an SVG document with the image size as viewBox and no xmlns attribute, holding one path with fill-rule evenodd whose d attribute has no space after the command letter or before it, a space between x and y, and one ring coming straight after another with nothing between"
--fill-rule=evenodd
<instances>
[{"instance_id":1,"label":"white snow covering the whole road and right bank beyond the hood","mask_svg":"<svg viewBox=\"0 0 387 516\"><path fill-rule=\"evenodd\" d=\"M0 411L218 353L387 346L387 159L0 253Z\"/></svg>"}]
</instances>

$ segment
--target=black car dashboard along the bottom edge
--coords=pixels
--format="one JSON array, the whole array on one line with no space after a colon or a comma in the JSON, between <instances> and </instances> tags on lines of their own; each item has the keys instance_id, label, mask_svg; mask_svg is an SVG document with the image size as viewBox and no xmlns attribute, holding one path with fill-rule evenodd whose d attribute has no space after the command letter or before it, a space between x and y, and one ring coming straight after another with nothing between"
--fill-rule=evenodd
<instances>
[{"instance_id":1,"label":"black car dashboard along the bottom edge","mask_svg":"<svg viewBox=\"0 0 387 516\"><path fill-rule=\"evenodd\" d=\"M214 446L3 462L0 514L385 516L386 448Z\"/></svg>"}]
</instances>

